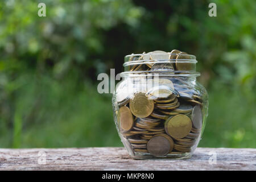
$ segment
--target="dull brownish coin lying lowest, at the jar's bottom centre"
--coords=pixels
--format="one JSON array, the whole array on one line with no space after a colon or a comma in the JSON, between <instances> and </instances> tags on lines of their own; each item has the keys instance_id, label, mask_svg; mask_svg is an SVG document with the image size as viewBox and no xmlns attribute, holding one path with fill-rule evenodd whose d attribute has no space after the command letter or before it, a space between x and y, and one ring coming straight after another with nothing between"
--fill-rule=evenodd
<instances>
[{"instance_id":1,"label":"dull brownish coin lying lowest, at the jar's bottom centre","mask_svg":"<svg viewBox=\"0 0 256 182\"><path fill-rule=\"evenodd\" d=\"M147 142L147 151L154 156L164 156L170 151L170 141L165 137L152 137Z\"/></svg>"}]
</instances>

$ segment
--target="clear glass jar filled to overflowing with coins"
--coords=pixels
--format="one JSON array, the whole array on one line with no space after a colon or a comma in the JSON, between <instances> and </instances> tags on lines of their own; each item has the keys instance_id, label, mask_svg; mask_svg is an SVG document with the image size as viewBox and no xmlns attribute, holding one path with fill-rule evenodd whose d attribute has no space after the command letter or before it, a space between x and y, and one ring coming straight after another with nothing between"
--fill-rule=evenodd
<instances>
[{"instance_id":1,"label":"clear glass jar filled to overflowing with coins","mask_svg":"<svg viewBox=\"0 0 256 182\"><path fill-rule=\"evenodd\" d=\"M189 159L208 114L196 56L176 49L125 56L113 93L119 137L134 159Z\"/></svg>"}]
</instances>

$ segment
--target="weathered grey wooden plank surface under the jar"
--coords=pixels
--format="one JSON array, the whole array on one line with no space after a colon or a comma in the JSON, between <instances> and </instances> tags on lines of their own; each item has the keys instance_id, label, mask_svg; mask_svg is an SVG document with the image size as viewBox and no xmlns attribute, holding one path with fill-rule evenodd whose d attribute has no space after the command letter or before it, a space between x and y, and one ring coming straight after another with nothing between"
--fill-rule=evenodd
<instances>
[{"instance_id":1,"label":"weathered grey wooden plank surface under the jar","mask_svg":"<svg viewBox=\"0 0 256 182\"><path fill-rule=\"evenodd\" d=\"M134 160L121 147L0 149L0 170L256 170L256 149L197 148L189 160Z\"/></svg>"}]
</instances>

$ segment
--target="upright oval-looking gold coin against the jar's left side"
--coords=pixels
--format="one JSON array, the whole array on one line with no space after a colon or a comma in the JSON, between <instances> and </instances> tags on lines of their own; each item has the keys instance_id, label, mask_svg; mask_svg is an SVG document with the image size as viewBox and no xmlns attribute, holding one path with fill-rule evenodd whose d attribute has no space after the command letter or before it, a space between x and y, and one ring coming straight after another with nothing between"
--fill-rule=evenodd
<instances>
[{"instance_id":1,"label":"upright oval-looking gold coin against the jar's left side","mask_svg":"<svg viewBox=\"0 0 256 182\"><path fill-rule=\"evenodd\" d=\"M129 131L133 127L133 115L129 107L122 106L118 111L118 120L123 131Z\"/></svg>"}]
</instances>

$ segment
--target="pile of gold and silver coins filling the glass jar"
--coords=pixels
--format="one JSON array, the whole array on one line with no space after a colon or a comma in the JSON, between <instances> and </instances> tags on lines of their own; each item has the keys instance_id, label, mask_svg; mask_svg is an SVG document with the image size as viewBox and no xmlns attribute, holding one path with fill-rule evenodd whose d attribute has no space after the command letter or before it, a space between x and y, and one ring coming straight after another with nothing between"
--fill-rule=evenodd
<instances>
[{"instance_id":1,"label":"pile of gold and silver coins filling the glass jar","mask_svg":"<svg viewBox=\"0 0 256 182\"><path fill-rule=\"evenodd\" d=\"M145 54L140 59L178 59L157 51L159 55ZM183 53L173 50L172 53ZM168 55L168 57L167 57ZM139 69L189 69L189 65L164 63L134 65L130 71ZM158 87L146 92L124 96L117 93L118 126L122 137L129 141L134 152L149 153L153 156L191 152L201 134L203 99L200 93L180 77L158 79ZM121 96L118 96L120 94Z\"/></svg>"}]
</instances>

